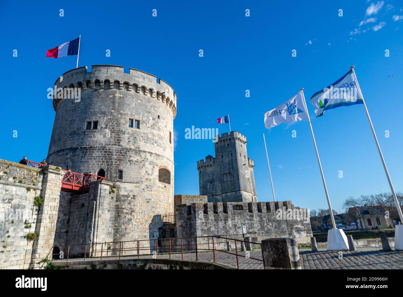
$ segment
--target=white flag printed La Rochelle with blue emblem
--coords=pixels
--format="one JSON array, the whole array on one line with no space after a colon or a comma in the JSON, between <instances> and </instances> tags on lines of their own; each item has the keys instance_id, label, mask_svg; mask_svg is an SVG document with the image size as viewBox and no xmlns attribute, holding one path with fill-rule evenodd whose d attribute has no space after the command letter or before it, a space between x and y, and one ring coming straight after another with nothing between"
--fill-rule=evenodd
<instances>
[{"instance_id":1,"label":"white flag printed La Rochelle with blue emblem","mask_svg":"<svg viewBox=\"0 0 403 297\"><path fill-rule=\"evenodd\" d=\"M308 116L303 104L302 91L299 91L293 98L265 113L264 126L270 129L281 123L291 123L303 119L308 119Z\"/></svg>"}]
</instances>

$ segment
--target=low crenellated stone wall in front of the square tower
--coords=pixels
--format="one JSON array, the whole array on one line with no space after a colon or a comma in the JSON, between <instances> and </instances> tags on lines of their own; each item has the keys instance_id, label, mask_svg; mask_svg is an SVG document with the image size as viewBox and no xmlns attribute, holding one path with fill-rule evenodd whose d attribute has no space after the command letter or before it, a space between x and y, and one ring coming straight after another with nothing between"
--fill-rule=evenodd
<instances>
[{"instance_id":1,"label":"low crenellated stone wall in front of the square tower","mask_svg":"<svg viewBox=\"0 0 403 297\"><path fill-rule=\"evenodd\" d=\"M279 216L278 209L285 213L305 211L307 220ZM192 203L177 205L176 210L178 237L238 234L238 237L229 237L242 238L242 226L246 226L245 236L250 236L252 242L286 237L297 243L310 243L312 236L307 209L294 207L291 201Z\"/></svg>"}]
</instances>

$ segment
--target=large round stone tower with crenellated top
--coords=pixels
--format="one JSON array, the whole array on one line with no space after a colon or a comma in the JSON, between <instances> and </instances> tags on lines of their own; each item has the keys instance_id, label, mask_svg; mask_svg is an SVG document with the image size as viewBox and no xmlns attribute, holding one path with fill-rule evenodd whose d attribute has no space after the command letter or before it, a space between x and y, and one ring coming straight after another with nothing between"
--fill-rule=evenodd
<instances>
[{"instance_id":1,"label":"large round stone tower with crenellated top","mask_svg":"<svg viewBox=\"0 0 403 297\"><path fill-rule=\"evenodd\" d=\"M113 229L114 240L152 239L156 215L173 211L177 96L154 75L123 70L93 65L56 80L56 88L77 88L80 96L54 95L47 161L114 183L114 216L102 227Z\"/></svg>"}]
</instances>

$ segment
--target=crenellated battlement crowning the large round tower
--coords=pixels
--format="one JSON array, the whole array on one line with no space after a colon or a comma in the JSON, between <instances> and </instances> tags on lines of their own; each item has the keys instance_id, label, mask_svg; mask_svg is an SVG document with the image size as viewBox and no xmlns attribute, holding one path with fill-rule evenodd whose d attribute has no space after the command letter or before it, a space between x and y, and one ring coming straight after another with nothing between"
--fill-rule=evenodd
<instances>
[{"instance_id":1,"label":"crenellated battlement crowning the large round tower","mask_svg":"<svg viewBox=\"0 0 403 297\"><path fill-rule=\"evenodd\" d=\"M87 66L84 66L63 73L63 76L56 79L55 86L63 89L81 88L82 92L104 90L136 92L161 101L172 110L173 117L177 113L177 94L174 89L162 79L158 79L157 82L155 75L134 68L130 68L129 73L124 73L123 66L93 65L88 72ZM54 96L55 111L60 100L62 98Z\"/></svg>"}]
</instances>

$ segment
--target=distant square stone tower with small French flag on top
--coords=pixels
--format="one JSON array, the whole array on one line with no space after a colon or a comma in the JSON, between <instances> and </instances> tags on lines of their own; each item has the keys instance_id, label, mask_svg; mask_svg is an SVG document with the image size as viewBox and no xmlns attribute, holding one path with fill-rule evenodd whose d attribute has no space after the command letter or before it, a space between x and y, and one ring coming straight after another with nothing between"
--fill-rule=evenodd
<instances>
[{"instance_id":1,"label":"distant square stone tower with small French flag on top","mask_svg":"<svg viewBox=\"0 0 403 297\"><path fill-rule=\"evenodd\" d=\"M200 195L208 202L256 202L253 160L248 158L246 137L231 131L218 136L216 157L197 161Z\"/></svg>"}]
</instances>

